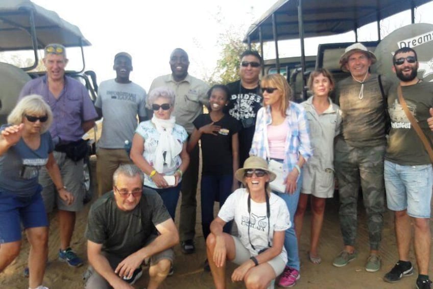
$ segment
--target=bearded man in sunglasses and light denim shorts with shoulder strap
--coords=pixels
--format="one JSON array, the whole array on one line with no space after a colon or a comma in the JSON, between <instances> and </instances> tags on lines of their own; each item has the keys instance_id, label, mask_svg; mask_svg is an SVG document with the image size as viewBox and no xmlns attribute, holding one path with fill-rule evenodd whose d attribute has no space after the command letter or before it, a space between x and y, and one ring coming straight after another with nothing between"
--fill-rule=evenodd
<instances>
[{"instance_id":1,"label":"bearded man in sunglasses and light denim shorts with shoulder strap","mask_svg":"<svg viewBox=\"0 0 433 289\"><path fill-rule=\"evenodd\" d=\"M413 274L409 251L414 227L414 249L418 264L416 286L429 289L429 218L433 170L428 153L403 110L398 90L401 87L401 97L431 147L433 134L427 120L431 117L430 109L433 106L433 84L418 79L418 58L412 48L400 48L394 53L392 70L400 82L391 88L388 95L391 131L385 154L384 177L387 206L394 211L395 216L399 260L383 280L394 283L403 276Z\"/></svg>"}]
</instances>

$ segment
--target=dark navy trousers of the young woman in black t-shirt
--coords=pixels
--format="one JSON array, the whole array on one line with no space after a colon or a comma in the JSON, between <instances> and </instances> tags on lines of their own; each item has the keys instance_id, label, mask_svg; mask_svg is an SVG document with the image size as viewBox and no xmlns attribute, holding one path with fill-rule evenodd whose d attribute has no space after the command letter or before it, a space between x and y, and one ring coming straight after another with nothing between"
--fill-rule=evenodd
<instances>
[{"instance_id":1,"label":"dark navy trousers of the young woman in black t-shirt","mask_svg":"<svg viewBox=\"0 0 433 289\"><path fill-rule=\"evenodd\" d=\"M210 234L210 223L213 220L213 203L220 202L220 208L232 193L233 174L225 175L202 175L201 199L202 199L202 230L206 240ZM230 233L232 222L227 223L223 231Z\"/></svg>"}]
</instances>

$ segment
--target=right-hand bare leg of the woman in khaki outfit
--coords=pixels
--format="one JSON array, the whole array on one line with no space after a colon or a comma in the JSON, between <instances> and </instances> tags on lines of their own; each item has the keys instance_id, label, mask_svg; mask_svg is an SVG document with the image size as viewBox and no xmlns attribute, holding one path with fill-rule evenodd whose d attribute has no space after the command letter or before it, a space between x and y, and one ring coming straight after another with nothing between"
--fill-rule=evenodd
<instances>
[{"instance_id":1,"label":"right-hand bare leg of the woman in khaki outfit","mask_svg":"<svg viewBox=\"0 0 433 289\"><path fill-rule=\"evenodd\" d=\"M310 254L318 257L317 247L319 244L320 232L322 231L323 216L325 214L326 199L311 195L311 241Z\"/></svg>"}]
</instances>

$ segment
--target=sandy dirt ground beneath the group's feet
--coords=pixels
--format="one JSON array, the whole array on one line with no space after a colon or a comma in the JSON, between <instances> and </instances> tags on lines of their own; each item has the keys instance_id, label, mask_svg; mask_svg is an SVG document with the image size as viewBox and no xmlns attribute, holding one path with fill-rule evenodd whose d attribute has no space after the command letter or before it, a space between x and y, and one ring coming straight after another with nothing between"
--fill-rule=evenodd
<instances>
[{"instance_id":1,"label":"sandy dirt ground beneath the group's feet","mask_svg":"<svg viewBox=\"0 0 433 289\"><path fill-rule=\"evenodd\" d=\"M92 157L93 184L95 185L95 158ZM199 194L198 194L198 202ZM86 258L86 240L84 230L86 227L87 213L90 204L78 214L77 224L73 237L72 247L77 253L84 258L85 264L80 268L70 268L66 263L57 259L59 249L59 228L56 215L51 216L50 227L50 253L49 264L47 264L44 285L50 289L75 289L83 288L82 274L87 268ZM300 244L301 258L301 278L296 284L296 288L415 288L417 272L413 276L403 278L398 283L390 284L382 281L383 275L388 272L397 261L396 240L394 237L394 224L391 212L385 214L385 224L383 229L383 240L381 245L382 268L376 273L368 273L364 270L364 263L368 257L368 234L365 226L365 214L362 205L359 204L359 226L357 249L358 258L343 268L332 266L332 260L342 249L342 238L338 221L338 201L329 199L326 208L326 215L323 225L323 232L320 242L319 252L322 257L322 263L319 265L312 264L307 259L307 250L309 243L309 219L310 214L307 212L305 225L302 232ZM215 207L215 212L218 208ZM179 211L179 206L178 206ZM177 219L179 219L179 212ZM197 212L196 223L196 246L197 252L191 255L184 255L180 247L176 246L175 273L168 277L161 288L214 288L210 273L203 271L202 265L206 259L205 242L200 225L200 206ZM408 232L409 233L409 232ZM0 289L28 288L28 279L23 277L22 271L26 266L29 253L29 244L24 238L22 250L19 257L0 274ZM411 261L415 263L413 253ZM227 270L228 288L244 288L242 283L232 283L229 281L230 274L234 265L230 264ZM148 275L143 277L135 284L135 288L143 288L147 285Z\"/></svg>"}]
</instances>

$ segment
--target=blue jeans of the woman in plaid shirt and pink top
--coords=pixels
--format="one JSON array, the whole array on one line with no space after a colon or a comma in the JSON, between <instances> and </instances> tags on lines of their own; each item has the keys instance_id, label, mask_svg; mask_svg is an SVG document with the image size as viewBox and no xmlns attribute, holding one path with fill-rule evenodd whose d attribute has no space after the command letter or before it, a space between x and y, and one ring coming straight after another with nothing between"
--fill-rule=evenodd
<instances>
[{"instance_id":1,"label":"blue jeans of the woman in plaid shirt and pink top","mask_svg":"<svg viewBox=\"0 0 433 289\"><path fill-rule=\"evenodd\" d=\"M279 197L281 197L285 204L287 205L288 213L290 213L290 221L292 223L292 227L288 228L285 231L284 235L284 248L287 251L287 266L294 268L299 271L299 252L298 252L298 239L296 238L295 233L295 223L294 217L296 213L296 208L298 207L299 194L302 188L302 172L298 177L298 182L296 183L296 191L293 194L288 193L278 193Z\"/></svg>"}]
</instances>

